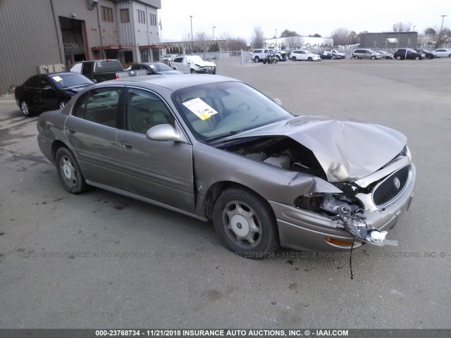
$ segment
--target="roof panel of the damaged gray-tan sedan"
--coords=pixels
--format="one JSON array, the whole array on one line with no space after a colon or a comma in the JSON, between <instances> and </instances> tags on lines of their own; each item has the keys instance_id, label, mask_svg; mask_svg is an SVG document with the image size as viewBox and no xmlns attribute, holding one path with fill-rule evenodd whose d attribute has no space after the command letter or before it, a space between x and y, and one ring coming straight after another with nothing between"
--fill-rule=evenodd
<instances>
[{"instance_id":1,"label":"roof panel of the damaged gray-tan sedan","mask_svg":"<svg viewBox=\"0 0 451 338\"><path fill-rule=\"evenodd\" d=\"M108 86L109 84L122 84L122 85L137 85L142 84L142 87L159 86L175 91L180 88L197 86L199 84L209 84L216 82L229 82L236 81L231 77L221 75L209 75L209 74L176 74L176 75L152 75L149 76L136 76L125 77L123 79L111 80L101 82L97 87ZM149 86L148 86L149 85Z\"/></svg>"}]
</instances>

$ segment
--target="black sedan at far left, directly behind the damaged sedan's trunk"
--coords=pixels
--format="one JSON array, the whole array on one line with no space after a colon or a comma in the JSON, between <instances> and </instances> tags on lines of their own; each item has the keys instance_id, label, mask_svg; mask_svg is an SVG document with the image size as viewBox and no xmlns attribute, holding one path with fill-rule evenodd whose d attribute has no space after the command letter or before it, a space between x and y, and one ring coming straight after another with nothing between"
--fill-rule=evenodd
<instances>
[{"instance_id":1,"label":"black sedan at far left, directly behind the damaged sedan's trunk","mask_svg":"<svg viewBox=\"0 0 451 338\"><path fill-rule=\"evenodd\" d=\"M25 116L63 108L80 90L94 84L78 73L49 73L30 77L16 87L16 103Z\"/></svg>"}]
</instances>

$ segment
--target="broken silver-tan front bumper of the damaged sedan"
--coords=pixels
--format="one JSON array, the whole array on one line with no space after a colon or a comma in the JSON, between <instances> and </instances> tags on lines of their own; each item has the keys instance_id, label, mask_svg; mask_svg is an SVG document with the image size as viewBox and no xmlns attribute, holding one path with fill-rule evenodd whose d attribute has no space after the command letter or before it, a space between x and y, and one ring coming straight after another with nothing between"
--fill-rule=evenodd
<instances>
[{"instance_id":1,"label":"broken silver-tan front bumper of the damaged sedan","mask_svg":"<svg viewBox=\"0 0 451 338\"><path fill-rule=\"evenodd\" d=\"M404 193L392 204L378 211L365 211L366 224L376 230L388 230L395 226L397 219L407 211L412 203L416 180L416 169L412 163L411 179ZM319 213L306 211L278 202L270 201L276 215L280 245L302 251L347 251L351 245L338 245L326 239L352 240L352 235L337 227L337 223ZM354 249L363 242L355 239Z\"/></svg>"}]
</instances>

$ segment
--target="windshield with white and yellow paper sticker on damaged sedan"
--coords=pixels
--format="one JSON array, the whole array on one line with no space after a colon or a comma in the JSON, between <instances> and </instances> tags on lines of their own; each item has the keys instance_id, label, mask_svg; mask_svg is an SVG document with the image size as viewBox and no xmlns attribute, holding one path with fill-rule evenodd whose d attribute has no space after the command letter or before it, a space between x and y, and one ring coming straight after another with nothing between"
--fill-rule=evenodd
<instances>
[{"instance_id":1,"label":"windshield with white and yellow paper sticker on damaged sedan","mask_svg":"<svg viewBox=\"0 0 451 338\"><path fill-rule=\"evenodd\" d=\"M178 89L172 99L191 132L211 142L293 115L242 82L217 82Z\"/></svg>"}]
</instances>

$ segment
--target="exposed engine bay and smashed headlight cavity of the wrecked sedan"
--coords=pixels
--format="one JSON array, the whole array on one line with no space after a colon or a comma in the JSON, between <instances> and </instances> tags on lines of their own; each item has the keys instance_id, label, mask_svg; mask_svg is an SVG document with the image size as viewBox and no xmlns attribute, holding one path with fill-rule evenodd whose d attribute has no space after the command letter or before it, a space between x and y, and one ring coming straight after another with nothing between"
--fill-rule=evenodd
<instances>
[{"instance_id":1,"label":"exposed engine bay and smashed headlight cavity of the wrecked sedan","mask_svg":"<svg viewBox=\"0 0 451 338\"><path fill-rule=\"evenodd\" d=\"M286 170L327 180L326 173L313 151L290 137L235 139L232 144L223 144L219 148ZM323 215L336 223L336 227L346 230L362 242L377 246L396 246L397 241L385 239L388 232L367 225L364 205L356 198L359 193L371 194L376 183L368 187L359 187L354 182L333 182L331 184L338 187L342 194L310 193L297 197L294 204L297 208Z\"/></svg>"}]
</instances>

